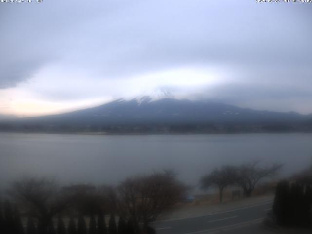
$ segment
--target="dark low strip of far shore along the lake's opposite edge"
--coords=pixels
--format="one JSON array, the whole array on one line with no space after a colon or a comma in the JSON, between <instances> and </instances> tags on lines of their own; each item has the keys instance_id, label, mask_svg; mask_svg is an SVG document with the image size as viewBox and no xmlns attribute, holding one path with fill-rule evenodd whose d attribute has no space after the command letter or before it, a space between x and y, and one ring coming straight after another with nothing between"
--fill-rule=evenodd
<instances>
[{"instance_id":1,"label":"dark low strip of far shore along the lake's opposite edge","mask_svg":"<svg viewBox=\"0 0 312 234\"><path fill-rule=\"evenodd\" d=\"M303 123L133 123L133 124L78 124L0 122L0 132L95 132L108 134L176 134L176 133L263 133L311 132L311 124Z\"/></svg>"}]
</instances>

